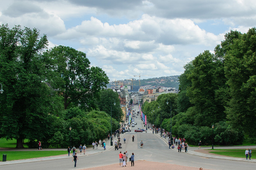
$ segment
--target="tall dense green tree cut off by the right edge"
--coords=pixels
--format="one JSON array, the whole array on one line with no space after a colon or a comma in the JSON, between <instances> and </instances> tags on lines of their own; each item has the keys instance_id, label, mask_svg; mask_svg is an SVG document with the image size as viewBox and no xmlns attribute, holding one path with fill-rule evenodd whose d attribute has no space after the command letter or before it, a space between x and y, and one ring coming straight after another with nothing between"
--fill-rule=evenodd
<instances>
[{"instance_id":1,"label":"tall dense green tree cut off by the right edge","mask_svg":"<svg viewBox=\"0 0 256 170\"><path fill-rule=\"evenodd\" d=\"M250 137L256 134L255 105L256 72L256 29L247 33L229 45L225 55L225 75L229 86L227 117L230 123L240 128Z\"/></svg>"}]
</instances>

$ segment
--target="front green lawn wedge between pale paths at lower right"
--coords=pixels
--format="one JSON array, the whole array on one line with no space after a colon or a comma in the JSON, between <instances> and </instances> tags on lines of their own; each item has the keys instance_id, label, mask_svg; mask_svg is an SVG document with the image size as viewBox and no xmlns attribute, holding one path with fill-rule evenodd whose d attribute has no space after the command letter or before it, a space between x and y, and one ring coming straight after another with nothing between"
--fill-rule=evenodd
<instances>
[{"instance_id":1,"label":"front green lawn wedge between pale paths at lower right","mask_svg":"<svg viewBox=\"0 0 256 170\"><path fill-rule=\"evenodd\" d=\"M245 149L214 149L214 150L219 150L219 151L210 151L210 153L223 155L223 156L236 157L236 158L245 158ZM255 151L256 149L252 149L252 152L255 152ZM253 158L253 155L252 155L252 158Z\"/></svg>"}]
</instances>

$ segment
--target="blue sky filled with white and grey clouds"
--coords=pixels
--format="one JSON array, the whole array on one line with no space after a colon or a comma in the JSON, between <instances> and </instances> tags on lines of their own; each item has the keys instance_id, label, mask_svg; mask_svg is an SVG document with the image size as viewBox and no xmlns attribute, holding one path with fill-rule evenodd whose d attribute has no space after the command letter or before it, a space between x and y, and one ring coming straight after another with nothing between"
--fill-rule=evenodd
<instances>
[{"instance_id":1,"label":"blue sky filled with white and grey clouds","mask_svg":"<svg viewBox=\"0 0 256 170\"><path fill-rule=\"evenodd\" d=\"M138 80L180 75L230 30L255 27L256 1L0 0L0 24L37 28L49 48L84 52L110 81Z\"/></svg>"}]
</instances>

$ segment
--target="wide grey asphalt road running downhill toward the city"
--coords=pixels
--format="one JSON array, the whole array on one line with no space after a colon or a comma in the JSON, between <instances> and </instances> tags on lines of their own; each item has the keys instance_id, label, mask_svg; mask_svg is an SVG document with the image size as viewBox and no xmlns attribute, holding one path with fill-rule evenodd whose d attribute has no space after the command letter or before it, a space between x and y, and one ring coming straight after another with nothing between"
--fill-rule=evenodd
<instances>
[{"instance_id":1,"label":"wide grey asphalt road running downhill toward the city","mask_svg":"<svg viewBox=\"0 0 256 170\"><path fill-rule=\"evenodd\" d=\"M138 108L136 108L138 109ZM137 111L136 111L137 113ZM135 133L134 130L138 128L144 128L140 117L135 118L134 128L131 128L131 132L126 132L123 137L126 138L126 143L123 143L123 137L121 138L122 149L115 150L110 149L103 153L79 157L76 169L85 169L90 167L99 167L105 165L118 166L119 164L119 151L125 152L127 150L129 152L129 156L132 152L135 155L135 164L139 163L136 160L147 160L149 162L159 162L159 163L167 163L167 164L176 164L176 165L184 165L190 167L203 167L206 169L256 169L255 163L248 162L239 162L234 160L222 160L222 159L209 159L203 158L193 155L188 155L183 152L178 153L177 150L169 149L167 143L164 142L157 135L154 135L152 131L146 132L138 132ZM134 135L135 139L132 142L132 135ZM140 141L143 141L143 149L140 148ZM117 165L118 164L118 165ZM130 165L130 163L129 163ZM44 162L36 162L36 163L23 163L23 164L14 164L14 165L2 165L0 169L5 170L13 170L13 169L26 169L26 170L40 170L40 169L74 169L74 163L72 162L72 158L68 159L59 159L59 160L47 160ZM161 169L161 168L159 168Z\"/></svg>"}]
</instances>

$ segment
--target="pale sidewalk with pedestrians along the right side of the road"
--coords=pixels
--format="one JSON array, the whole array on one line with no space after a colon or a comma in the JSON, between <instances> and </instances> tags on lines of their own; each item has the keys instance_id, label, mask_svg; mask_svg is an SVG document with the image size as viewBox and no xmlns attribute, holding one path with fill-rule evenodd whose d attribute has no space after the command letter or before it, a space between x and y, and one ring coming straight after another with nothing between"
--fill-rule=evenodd
<instances>
[{"instance_id":1,"label":"pale sidewalk with pedestrians along the right side of the road","mask_svg":"<svg viewBox=\"0 0 256 170\"><path fill-rule=\"evenodd\" d=\"M155 133L154 133L155 134ZM165 138L162 138L161 137L161 133L158 133L158 134L155 134L157 135L157 137L161 138L163 141L166 142L167 146L169 147L169 144L168 144L168 138L165 139ZM241 149L243 148L244 150L246 150L246 148L252 148L252 149L255 149L256 146L239 146L239 147L214 147L215 149ZM174 148L175 150L178 151L177 147L175 146ZM245 156L244 158L235 158L235 157L228 157L228 156L218 156L218 155L209 155L209 154L203 154L203 153L200 153L200 152L196 152L195 150L197 150L198 147L189 147L188 149L188 152L185 152L185 151L182 151L181 153L182 154L189 154L189 155L194 155L194 156L200 156L200 157L205 157L205 158L214 158L214 159L226 159L226 160L236 160L236 161L242 161L242 162L250 162L250 163L256 163L256 159L248 159L246 160L245 159ZM211 147L203 147L201 149L211 149Z\"/></svg>"}]
</instances>

